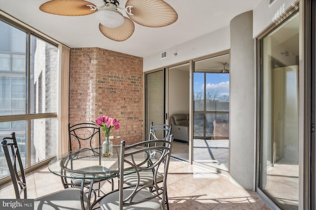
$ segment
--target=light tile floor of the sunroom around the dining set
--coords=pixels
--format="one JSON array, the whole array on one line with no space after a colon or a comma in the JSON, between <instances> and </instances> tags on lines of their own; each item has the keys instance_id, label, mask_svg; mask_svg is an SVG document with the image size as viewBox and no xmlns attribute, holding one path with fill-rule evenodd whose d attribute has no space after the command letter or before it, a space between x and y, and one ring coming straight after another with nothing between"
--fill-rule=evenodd
<instances>
[{"instance_id":1,"label":"light tile floor of the sunroom around the dining set","mask_svg":"<svg viewBox=\"0 0 316 210\"><path fill-rule=\"evenodd\" d=\"M28 198L63 189L60 177L47 167L28 173L27 185ZM255 192L233 184L226 175L175 159L170 161L167 185L170 210L270 210ZM111 185L102 187L108 192ZM15 198L11 183L0 186L0 198Z\"/></svg>"}]
</instances>

